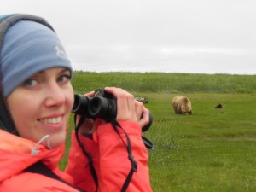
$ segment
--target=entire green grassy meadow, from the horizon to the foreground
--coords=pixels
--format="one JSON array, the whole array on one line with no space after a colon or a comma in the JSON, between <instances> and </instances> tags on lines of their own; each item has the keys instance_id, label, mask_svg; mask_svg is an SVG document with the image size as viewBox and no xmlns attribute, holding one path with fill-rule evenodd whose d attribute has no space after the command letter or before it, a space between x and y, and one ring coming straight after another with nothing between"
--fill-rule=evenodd
<instances>
[{"instance_id":1,"label":"entire green grassy meadow, from the horizon to the foreground","mask_svg":"<svg viewBox=\"0 0 256 192\"><path fill-rule=\"evenodd\" d=\"M74 73L76 93L105 86L148 99L154 122L143 136L154 143L148 150L154 192L256 191L255 75ZM192 115L173 112L177 95L189 97ZM214 108L219 103L223 108Z\"/></svg>"}]
</instances>

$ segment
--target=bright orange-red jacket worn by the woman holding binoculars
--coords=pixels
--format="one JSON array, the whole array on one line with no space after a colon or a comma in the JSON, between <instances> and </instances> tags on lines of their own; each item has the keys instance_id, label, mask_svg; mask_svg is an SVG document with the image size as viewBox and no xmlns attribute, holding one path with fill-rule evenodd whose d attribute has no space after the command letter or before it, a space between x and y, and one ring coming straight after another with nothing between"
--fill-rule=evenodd
<instances>
[{"instance_id":1,"label":"bright orange-red jacket worn by the woman holding binoculars","mask_svg":"<svg viewBox=\"0 0 256 192\"><path fill-rule=\"evenodd\" d=\"M119 124L128 133L131 139L132 154L137 160L137 172L134 172L127 192L150 192L148 173L148 152L141 139L141 128L134 123L123 121ZM121 134L122 137L125 136ZM131 170L131 162L127 158L124 143L110 124L100 125L94 132L93 139L79 135L84 148L93 156L93 165L98 177L99 192L120 191L127 174ZM65 183L44 175L23 172L38 160L42 160L50 170L68 183L84 189L87 192L95 191L96 185L91 177L88 160L73 134L72 147L68 157L65 172L61 172L58 163L65 152L64 144L49 150L43 145L38 146L39 154L31 154L35 143L30 140L16 137L0 130L0 191L77 191Z\"/></svg>"}]
</instances>

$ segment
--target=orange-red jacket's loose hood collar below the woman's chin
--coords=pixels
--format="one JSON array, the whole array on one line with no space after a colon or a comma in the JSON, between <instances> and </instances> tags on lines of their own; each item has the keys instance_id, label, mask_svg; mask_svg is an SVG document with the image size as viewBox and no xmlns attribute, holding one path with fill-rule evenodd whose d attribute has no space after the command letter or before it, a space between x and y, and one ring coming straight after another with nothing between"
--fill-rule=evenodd
<instances>
[{"instance_id":1,"label":"orange-red jacket's loose hood collar below the woman's chin","mask_svg":"<svg viewBox=\"0 0 256 192\"><path fill-rule=\"evenodd\" d=\"M0 130L0 183L8 177L22 172L38 160L42 160L49 169L58 167L58 162L65 151L65 143L49 149L38 145L38 154L31 154L37 143Z\"/></svg>"}]
</instances>

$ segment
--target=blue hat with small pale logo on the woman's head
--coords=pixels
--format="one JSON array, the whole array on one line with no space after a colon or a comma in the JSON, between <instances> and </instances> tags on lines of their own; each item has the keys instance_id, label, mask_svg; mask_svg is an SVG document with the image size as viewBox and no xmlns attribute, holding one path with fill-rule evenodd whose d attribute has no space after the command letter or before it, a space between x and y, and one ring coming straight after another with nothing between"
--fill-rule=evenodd
<instances>
[{"instance_id":1,"label":"blue hat with small pale logo on the woman's head","mask_svg":"<svg viewBox=\"0 0 256 192\"><path fill-rule=\"evenodd\" d=\"M0 55L3 96L15 90L33 74L52 67L66 67L73 73L59 38L49 27L21 20L3 39Z\"/></svg>"}]
</instances>

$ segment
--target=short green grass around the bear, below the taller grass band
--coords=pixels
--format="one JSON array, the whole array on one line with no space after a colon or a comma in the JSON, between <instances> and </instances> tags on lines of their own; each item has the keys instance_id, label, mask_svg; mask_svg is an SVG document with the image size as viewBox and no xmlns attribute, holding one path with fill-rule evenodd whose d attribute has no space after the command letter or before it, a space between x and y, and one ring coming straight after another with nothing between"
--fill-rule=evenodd
<instances>
[{"instance_id":1,"label":"short green grass around the bear, below the taller grass band","mask_svg":"<svg viewBox=\"0 0 256 192\"><path fill-rule=\"evenodd\" d=\"M149 167L154 191L256 191L255 96L186 93L192 115L174 114L176 94L148 94L154 125ZM222 109L214 108L218 103Z\"/></svg>"}]
</instances>

